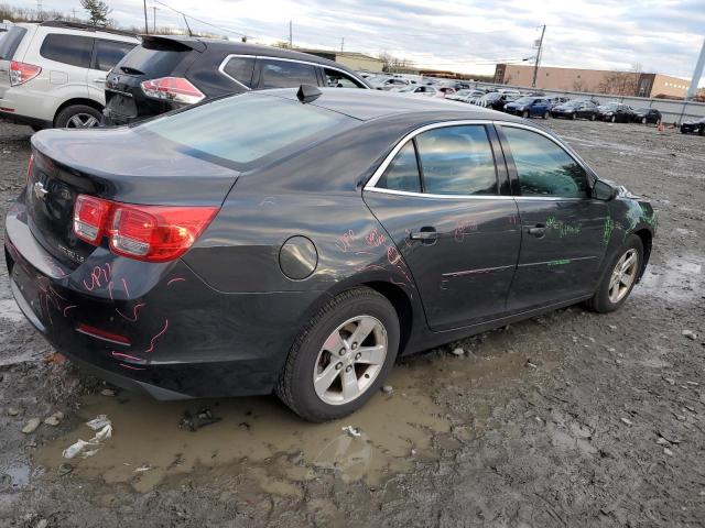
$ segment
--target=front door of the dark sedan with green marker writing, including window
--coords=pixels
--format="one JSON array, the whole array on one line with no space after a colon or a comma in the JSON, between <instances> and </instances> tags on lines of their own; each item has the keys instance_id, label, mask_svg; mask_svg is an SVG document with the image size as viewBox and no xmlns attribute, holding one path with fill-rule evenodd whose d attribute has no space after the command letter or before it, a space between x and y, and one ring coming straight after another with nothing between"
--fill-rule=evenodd
<instances>
[{"instance_id":1,"label":"front door of the dark sedan with green marker writing, including window","mask_svg":"<svg viewBox=\"0 0 705 528\"><path fill-rule=\"evenodd\" d=\"M605 254L609 213L592 198L586 169L536 130L499 128L522 239L508 307L523 311L592 294Z\"/></svg>"}]
</instances>

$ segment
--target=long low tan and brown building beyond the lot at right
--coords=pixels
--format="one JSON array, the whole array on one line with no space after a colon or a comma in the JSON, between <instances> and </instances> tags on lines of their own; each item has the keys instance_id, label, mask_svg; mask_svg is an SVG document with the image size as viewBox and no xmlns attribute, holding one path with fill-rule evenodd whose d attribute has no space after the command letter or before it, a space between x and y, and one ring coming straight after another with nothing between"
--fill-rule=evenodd
<instances>
[{"instance_id":1,"label":"long low tan and brown building beyond the lot at right","mask_svg":"<svg viewBox=\"0 0 705 528\"><path fill-rule=\"evenodd\" d=\"M495 82L531 86L533 66L498 64ZM601 69L554 68L541 66L536 75L536 88L545 90L587 91L620 96L665 97L683 99L690 82L679 77L633 72Z\"/></svg>"}]
</instances>

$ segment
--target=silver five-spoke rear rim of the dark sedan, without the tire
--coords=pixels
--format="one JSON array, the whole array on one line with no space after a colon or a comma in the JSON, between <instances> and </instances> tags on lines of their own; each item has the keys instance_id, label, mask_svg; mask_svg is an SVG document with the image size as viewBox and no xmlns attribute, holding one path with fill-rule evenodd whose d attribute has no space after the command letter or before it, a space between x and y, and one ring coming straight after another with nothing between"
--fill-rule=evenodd
<instances>
[{"instance_id":1,"label":"silver five-spoke rear rim of the dark sedan, without the tire","mask_svg":"<svg viewBox=\"0 0 705 528\"><path fill-rule=\"evenodd\" d=\"M318 352L313 372L316 395L328 405L357 399L375 383L387 350L387 330L379 319L348 319L328 336Z\"/></svg>"}]
</instances>

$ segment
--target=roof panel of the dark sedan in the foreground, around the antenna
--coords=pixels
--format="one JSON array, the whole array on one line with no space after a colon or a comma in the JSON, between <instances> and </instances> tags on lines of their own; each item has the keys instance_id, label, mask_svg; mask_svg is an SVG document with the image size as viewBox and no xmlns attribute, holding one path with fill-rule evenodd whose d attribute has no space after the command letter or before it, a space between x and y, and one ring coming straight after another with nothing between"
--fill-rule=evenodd
<instances>
[{"instance_id":1,"label":"roof panel of the dark sedan in the foreground, around the antenna","mask_svg":"<svg viewBox=\"0 0 705 528\"><path fill-rule=\"evenodd\" d=\"M430 113L443 113L451 119L458 120L490 119L521 122L518 118L502 112L445 99L403 96L382 90L360 90L358 88L321 88L321 97L310 105L361 121L413 113L417 113L420 119L427 119ZM265 90L259 94L296 99L296 89L294 88Z\"/></svg>"}]
</instances>

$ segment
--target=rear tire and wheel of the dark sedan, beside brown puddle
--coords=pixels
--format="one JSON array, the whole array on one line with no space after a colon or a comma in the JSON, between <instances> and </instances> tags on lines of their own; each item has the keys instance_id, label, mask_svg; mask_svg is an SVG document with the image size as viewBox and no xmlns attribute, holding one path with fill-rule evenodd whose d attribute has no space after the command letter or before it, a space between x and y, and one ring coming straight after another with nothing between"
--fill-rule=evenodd
<instances>
[{"instance_id":1,"label":"rear tire and wheel of the dark sedan, beside brown puddle","mask_svg":"<svg viewBox=\"0 0 705 528\"><path fill-rule=\"evenodd\" d=\"M276 395L305 420L347 416L382 385L399 350L397 310L377 292L360 287L327 302L289 352Z\"/></svg>"}]
</instances>

